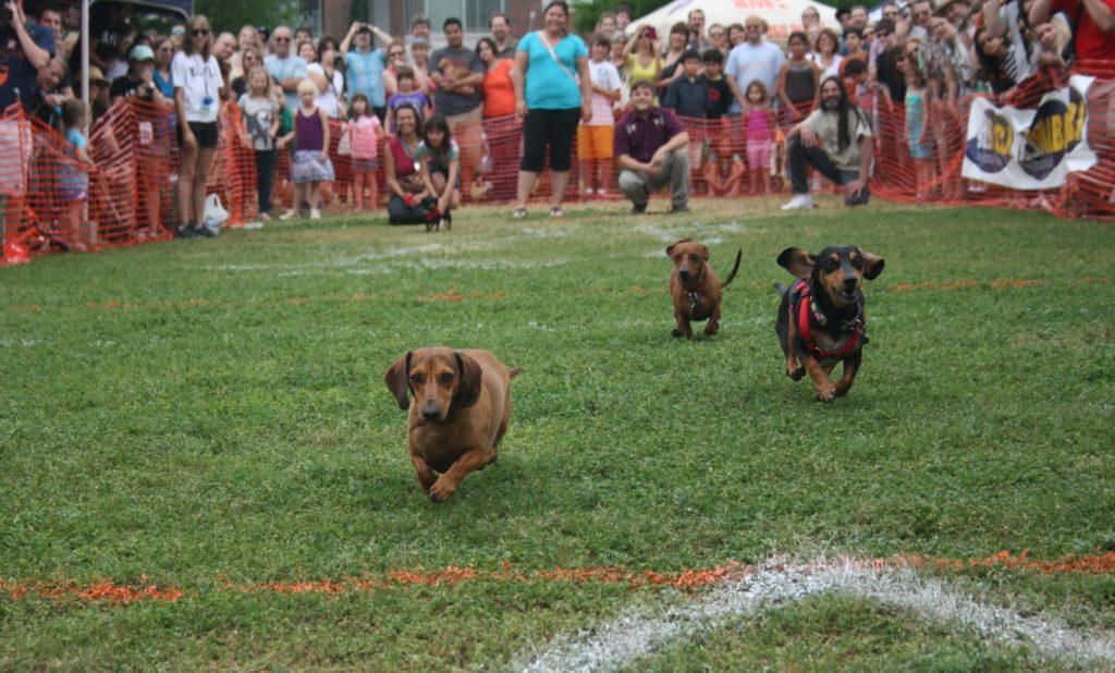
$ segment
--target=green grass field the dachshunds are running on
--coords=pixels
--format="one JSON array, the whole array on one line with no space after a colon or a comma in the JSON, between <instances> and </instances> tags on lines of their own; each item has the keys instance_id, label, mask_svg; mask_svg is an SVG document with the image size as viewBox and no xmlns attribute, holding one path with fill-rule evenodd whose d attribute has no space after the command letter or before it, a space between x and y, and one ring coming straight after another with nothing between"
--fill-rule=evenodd
<instances>
[{"instance_id":1,"label":"green grass field the dachshunds are running on","mask_svg":"<svg viewBox=\"0 0 1115 673\"><path fill-rule=\"evenodd\" d=\"M1115 549L1115 227L775 206L468 208L442 234L336 217L0 269L0 581L184 592L0 592L0 669L514 667L705 591L543 577L558 568ZM682 237L708 243L721 274L744 252L712 339L669 335L665 248ZM782 371L772 283L789 279L783 248L833 243L886 266L866 286L855 388L821 404ZM442 505L418 488L382 383L435 344L524 369L500 462ZM389 579L448 566L481 577ZM927 574L1115 630L1111 572ZM346 578L376 586L262 588ZM1076 664L834 595L617 665Z\"/></svg>"}]
</instances>

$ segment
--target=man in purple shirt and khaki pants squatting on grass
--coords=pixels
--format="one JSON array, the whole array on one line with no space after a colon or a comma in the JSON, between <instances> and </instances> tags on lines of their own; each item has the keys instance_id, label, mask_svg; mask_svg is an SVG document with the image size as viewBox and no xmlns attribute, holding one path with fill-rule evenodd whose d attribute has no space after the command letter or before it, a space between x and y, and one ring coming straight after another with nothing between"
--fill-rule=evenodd
<instances>
[{"instance_id":1,"label":"man in purple shirt and khaki pants squatting on grass","mask_svg":"<svg viewBox=\"0 0 1115 673\"><path fill-rule=\"evenodd\" d=\"M673 110L655 105L655 84L631 85L632 110L615 123L620 192L631 199L632 215L647 212L655 189L670 185L670 212L689 211L689 134Z\"/></svg>"}]
</instances>

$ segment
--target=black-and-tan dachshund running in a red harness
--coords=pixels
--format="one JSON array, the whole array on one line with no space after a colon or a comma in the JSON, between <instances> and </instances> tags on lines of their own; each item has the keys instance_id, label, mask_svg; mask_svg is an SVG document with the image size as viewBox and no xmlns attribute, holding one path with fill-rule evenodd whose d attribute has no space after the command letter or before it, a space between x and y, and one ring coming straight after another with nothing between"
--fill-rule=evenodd
<instances>
[{"instance_id":1,"label":"black-and-tan dachshund running in a red harness","mask_svg":"<svg viewBox=\"0 0 1115 673\"><path fill-rule=\"evenodd\" d=\"M775 283L782 294L775 332L786 355L786 374L797 381L808 372L823 402L852 389L867 343L863 280L876 279L883 264L882 257L854 245L830 246L820 255L787 247L778 255L778 265L798 279L792 287ZM844 369L833 384L830 377L837 362Z\"/></svg>"}]
</instances>

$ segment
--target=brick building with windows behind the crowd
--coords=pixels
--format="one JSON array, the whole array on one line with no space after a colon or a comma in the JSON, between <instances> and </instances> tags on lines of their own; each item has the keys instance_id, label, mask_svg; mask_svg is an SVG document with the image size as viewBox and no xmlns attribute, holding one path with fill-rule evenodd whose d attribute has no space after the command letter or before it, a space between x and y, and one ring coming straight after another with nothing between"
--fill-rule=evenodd
<instances>
[{"instance_id":1,"label":"brick building with windows behind the crowd","mask_svg":"<svg viewBox=\"0 0 1115 673\"><path fill-rule=\"evenodd\" d=\"M316 36L331 35L340 39L357 19L352 7L360 4L355 0L301 0L303 21ZM465 45L472 46L477 38L487 35L492 12L507 14L512 35L517 39L542 28L544 7L541 0L363 0L362 4L368 11L359 18L394 36L408 35L411 17L425 14L434 29L435 46L444 43L442 22L449 17L465 25Z\"/></svg>"}]
</instances>

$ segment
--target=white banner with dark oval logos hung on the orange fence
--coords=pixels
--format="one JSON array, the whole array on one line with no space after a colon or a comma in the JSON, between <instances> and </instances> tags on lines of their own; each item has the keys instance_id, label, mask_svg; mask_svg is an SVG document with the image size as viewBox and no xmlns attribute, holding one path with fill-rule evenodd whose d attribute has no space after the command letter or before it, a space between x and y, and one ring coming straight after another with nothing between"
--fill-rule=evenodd
<instances>
[{"instance_id":1,"label":"white banner with dark oval logos hung on the orange fence","mask_svg":"<svg viewBox=\"0 0 1115 673\"><path fill-rule=\"evenodd\" d=\"M1094 166L1086 96L1093 79L1074 75L1037 109L972 100L961 175L1014 189L1046 189L1064 185L1070 170Z\"/></svg>"}]
</instances>

